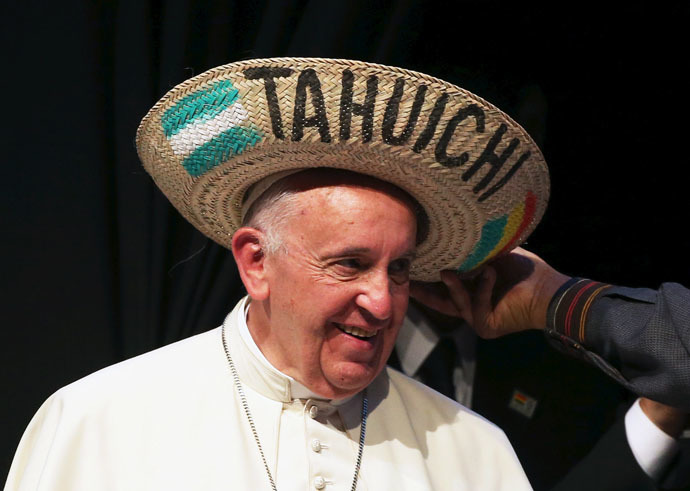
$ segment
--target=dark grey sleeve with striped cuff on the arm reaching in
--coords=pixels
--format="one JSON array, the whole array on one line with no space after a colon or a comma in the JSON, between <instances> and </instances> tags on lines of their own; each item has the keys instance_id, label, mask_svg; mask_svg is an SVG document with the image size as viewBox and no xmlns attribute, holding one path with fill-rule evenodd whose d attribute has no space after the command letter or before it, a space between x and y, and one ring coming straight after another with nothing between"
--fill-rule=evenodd
<instances>
[{"instance_id":1,"label":"dark grey sleeve with striped cuff on the arm reaching in","mask_svg":"<svg viewBox=\"0 0 690 491\"><path fill-rule=\"evenodd\" d=\"M658 291L584 279L551 301L546 334L631 391L690 410L690 290Z\"/></svg>"}]
</instances>

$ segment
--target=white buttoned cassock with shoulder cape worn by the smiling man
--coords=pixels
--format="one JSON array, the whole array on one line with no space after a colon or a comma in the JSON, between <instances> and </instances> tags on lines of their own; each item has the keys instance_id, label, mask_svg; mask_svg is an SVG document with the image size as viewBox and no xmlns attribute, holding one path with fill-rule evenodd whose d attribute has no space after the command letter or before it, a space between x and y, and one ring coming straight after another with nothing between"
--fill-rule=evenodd
<instances>
[{"instance_id":1,"label":"white buttoned cassock with shoulder cape worn by the smiling man","mask_svg":"<svg viewBox=\"0 0 690 491\"><path fill-rule=\"evenodd\" d=\"M278 490L350 489L362 394L308 397L256 348L246 305L222 328L57 391L24 433L5 489L270 489L222 329ZM482 417L390 369L367 393L358 490L531 489L503 432Z\"/></svg>"}]
</instances>

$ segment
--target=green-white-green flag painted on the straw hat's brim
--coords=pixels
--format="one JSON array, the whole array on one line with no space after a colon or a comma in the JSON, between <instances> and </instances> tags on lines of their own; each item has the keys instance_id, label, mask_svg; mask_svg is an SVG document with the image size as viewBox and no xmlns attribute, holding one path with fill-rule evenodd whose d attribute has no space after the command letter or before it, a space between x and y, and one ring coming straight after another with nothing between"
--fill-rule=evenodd
<instances>
[{"instance_id":1,"label":"green-white-green flag painted on the straw hat's brim","mask_svg":"<svg viewBox=\"0 0 690 491\"><path fill-rule=\"evenodd\" d=\"M198 177L263 139L247 117L238 90L221 80L183 97L165 111L161 126L182 166Z\"/></svg>"}]
</instances>

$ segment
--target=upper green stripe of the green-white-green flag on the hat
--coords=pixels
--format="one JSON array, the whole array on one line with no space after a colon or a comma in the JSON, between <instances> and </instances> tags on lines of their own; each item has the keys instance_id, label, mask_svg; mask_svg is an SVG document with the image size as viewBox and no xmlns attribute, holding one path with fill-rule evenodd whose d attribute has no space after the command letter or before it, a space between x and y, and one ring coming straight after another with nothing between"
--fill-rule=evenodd
<instances>
[{"instance_id":1,"label":"upper green stripe of the green-white-green flag on the hat","mask_svg":"<svg viewBox=\"0 0 690 491\"><path fill-rule=\"evenodd\" d=\"M161 125L166 138L198 119L212 119L232 105L239 95L229 80L221 80L209 87L193 92L165 111Z\"/></svg>"}]
</instances>

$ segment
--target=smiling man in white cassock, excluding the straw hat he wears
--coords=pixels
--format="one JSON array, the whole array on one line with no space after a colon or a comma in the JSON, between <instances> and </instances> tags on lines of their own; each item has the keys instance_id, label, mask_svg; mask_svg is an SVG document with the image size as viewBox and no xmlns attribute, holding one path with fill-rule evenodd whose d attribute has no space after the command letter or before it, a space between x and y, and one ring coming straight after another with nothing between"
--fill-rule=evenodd
<instances>
[{"instance_id":1,"label":"smiling man in white cassock, excluding the straw hat he wears","mask_svg":"<svg viewBox=\"0 0 690 491\"><path fill-rule=\"evenodd\" d=\"M383 371L407 308L410 198L330 170L275 187L233 236L249 298L220 330L56 394L20 489L529 487L498 428Z\"/></svg>"}]
</instances>

